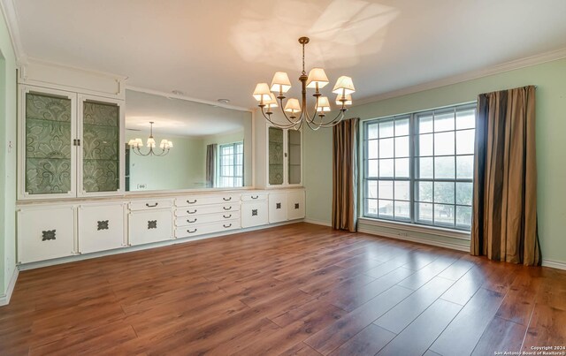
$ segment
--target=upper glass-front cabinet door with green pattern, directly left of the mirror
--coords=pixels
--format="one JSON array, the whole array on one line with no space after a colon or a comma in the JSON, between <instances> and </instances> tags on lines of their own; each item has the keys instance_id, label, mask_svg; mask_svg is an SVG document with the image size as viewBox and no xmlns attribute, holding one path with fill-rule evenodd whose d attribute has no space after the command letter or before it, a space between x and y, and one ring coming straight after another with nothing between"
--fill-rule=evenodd
<instances>
[{"instance_id":1,"label":"upper glass-front cabinet door with green pattern, directly left of the mirror","mask_svg":"<svg viewBox=\"0 0 566 356\"><path fill-rule=\"evenodd\" d=\"M79 95L80 195L123 191L121 109L120 101Z\"/></svg>"}]
</instances>

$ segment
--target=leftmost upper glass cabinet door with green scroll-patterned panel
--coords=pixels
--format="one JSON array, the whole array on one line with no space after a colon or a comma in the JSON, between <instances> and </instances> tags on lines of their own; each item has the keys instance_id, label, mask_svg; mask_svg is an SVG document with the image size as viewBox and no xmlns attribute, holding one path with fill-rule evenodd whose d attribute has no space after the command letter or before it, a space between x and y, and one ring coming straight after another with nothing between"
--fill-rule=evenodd
<instances>
[{"instance_id":1,"label":"leftmost upper glass cabinet door with green scroll-patterned panel","mask_svg":"<svg viewBox=\"0 0 566 356\"><path fill-rule=\"evenodd\" d=\"M22 87L19 101L20 198L75 196L76 95Z\"/></svg>"}]
</instances>

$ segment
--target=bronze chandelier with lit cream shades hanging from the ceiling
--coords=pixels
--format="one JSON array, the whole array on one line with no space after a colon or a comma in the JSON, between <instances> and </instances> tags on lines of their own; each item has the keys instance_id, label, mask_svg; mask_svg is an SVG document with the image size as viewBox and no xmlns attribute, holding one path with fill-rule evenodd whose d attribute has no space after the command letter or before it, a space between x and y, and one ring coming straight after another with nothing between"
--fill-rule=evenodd
<instances>
[{"instance_id":1,"label":"bronze chandelier with lit cream shades hanging from the ceiling","mask_svg":"<svg viewBox=\"0 0 566 356\"><path fill-rule=\"evenodd\" d=\"M298 99L289 98L285 106L283 105L283 100L286 98L285 93L291 88L291 82L286 72L275 73L271 88L267 83L256 85L254 98L259 102L258 106L262 110L262 115L272 125L279 128L300 130L304 124L308 125L312 130L318 130L320 127L331 127L340 123L342 118L344 118L344 112L348 110L346 107L352 104L352 93L356 91L354 83L350 77L341 76L336 80L333 88L333 93L337 95L338 115L333 119L325 118L326 113L330 111L330 102L328 97L320 93L319 89L328 84L328 77L326 77L325 70L322 68L312 68L308 76L307 72L304 71L304 46L309 41L309 37L299 38L299 43L302 44L302 73L299 77L302 86L301 102ZM315 93L312 95L315 97L315 107L312 115L309 115L307 111L307 88L315 89ZM278 106L281 108L281 112L287 120L286 122L278 123L272 119L273 108ZM287 115L287 113L289 114ZM299 116L297 117L297 115Z\"/></svg>"}]
</instances>

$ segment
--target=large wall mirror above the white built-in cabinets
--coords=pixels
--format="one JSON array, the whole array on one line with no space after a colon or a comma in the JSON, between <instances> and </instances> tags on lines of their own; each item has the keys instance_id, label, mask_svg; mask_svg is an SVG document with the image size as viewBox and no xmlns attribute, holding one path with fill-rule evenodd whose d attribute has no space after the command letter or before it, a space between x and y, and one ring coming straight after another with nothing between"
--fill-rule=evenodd
<instances>
[{"instance_id":1,"label":"large wall mirror above the white built-in cabinets","mask_svg":"<svg viewBox=\"0 0 566 356\"><path fill-rule=\"evenodd\" d=\"M147 141L153 122L157 155ZM251 186L251 112L126 90L126 191ZM172 142L166 155L162 140ZM165 150L166 151L166 150Z\"/></svg>"}]
</instances>

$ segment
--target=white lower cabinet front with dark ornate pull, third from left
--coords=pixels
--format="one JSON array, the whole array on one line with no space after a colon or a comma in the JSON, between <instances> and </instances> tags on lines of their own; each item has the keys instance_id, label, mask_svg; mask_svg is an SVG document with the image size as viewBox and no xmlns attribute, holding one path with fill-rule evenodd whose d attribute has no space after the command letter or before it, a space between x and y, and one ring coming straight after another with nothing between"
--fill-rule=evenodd
<instances>
[{"instance_id":1,"label":"white lower cabinet front with dark ornate pull, third from left","mask_svg":"<svg viewBox=\"0 0 566 356\"><path fill-rule=\"evenodd\" d=\"M172 230L171 209L133 211L130 213L130 245L142 245L172 239Z\"/></svg>"}]
</instances>

